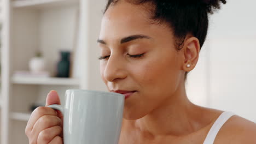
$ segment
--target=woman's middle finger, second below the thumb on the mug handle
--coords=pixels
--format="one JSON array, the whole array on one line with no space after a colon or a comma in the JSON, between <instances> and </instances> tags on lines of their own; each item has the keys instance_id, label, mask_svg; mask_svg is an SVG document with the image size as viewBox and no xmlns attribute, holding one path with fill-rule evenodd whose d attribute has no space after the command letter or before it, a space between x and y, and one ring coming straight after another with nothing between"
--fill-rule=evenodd
<instances>
[{"instance_id":1,"label":"woman's middle finger, second below the thumb on the mug handle","mask_svg":"<svg viewBox=\"0 0 256 144\"><path fill-rule=\"evenodd\" d=\"M38 139L38 135L41 131L59 125L62 127L61 119L57 116L44 115L38 119L31 130L31 137Z\"/></svg>"}]
</instances>

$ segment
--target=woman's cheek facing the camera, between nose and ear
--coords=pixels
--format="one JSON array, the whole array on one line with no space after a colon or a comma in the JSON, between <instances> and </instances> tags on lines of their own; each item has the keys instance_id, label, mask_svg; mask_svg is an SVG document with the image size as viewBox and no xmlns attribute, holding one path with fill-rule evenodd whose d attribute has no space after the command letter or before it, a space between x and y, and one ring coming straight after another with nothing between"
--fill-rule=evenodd
<instances>
[{"instance_id":1,"label":"woman's cheek facing the camera, between nose and ear","mask_svg":"<svg viewBox=\"0 0 256 144\"><path fill-rule=\"evenodd\" d=\"M138 83L146 91L170 91L177 88L179 69L176 59L161 59L141 63L135 68L134 74L137 75Z\"/></svg>"}]
</instances>

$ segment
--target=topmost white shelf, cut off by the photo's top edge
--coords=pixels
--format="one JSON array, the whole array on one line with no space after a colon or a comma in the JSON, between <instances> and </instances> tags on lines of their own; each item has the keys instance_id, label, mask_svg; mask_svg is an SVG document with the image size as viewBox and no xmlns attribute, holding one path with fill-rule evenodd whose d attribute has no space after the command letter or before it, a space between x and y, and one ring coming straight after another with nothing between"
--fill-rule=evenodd
<instances>
[{"instance_id":1,"label":"topmost white shelf, cut off by the photo's top edge","mask_svg":"<svg viewBox=\"0 0 256 144\"><path fill-rule=\"evenodd\" d=\"M44 9L50 7L62 7L65 5L76 5L79 0L14 0L11 5L14 8Z\"/></svg>"}]
</instances>

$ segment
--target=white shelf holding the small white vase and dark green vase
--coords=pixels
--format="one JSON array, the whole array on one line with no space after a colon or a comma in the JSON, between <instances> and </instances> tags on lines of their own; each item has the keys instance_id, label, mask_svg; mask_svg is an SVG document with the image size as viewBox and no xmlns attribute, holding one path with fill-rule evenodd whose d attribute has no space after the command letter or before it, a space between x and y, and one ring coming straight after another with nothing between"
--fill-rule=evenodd
<instances>
[{"instance_id":1,"label":"white shelf holding the small white vase and dark green vase","mask_svg":"<svg viewBox=\"0 0 256 144\"><path fill-rule=\"evenodd\" d=\"M38 78L38 77L13 77L11 82L23 85L64 85L79 86L79 79L71 78Z\"/></svg>"}]
</instances>

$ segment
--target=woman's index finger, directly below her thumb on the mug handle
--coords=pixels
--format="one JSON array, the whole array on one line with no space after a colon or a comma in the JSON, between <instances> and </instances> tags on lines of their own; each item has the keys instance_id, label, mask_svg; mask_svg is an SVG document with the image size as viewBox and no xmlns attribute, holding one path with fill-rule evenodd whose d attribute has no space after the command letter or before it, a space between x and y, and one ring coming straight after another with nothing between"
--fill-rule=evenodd
<instances>
[{"instance_id":1,"label":"woman's index finger, directly below her thumb on the mug handle","mask_svg":"<svg viewBox=\"0 0 256 144\"><path fill-rule=\"evenodd\" d=\"M37 109L32 112L30 119L27 122L27 126L25 129L25 133L27 136L30 135L31 130L33 129L34 124L38 121L38 119L44 115L57 116L57 112L50 107L37 107Z\"/></svg>"}]
</instances>

